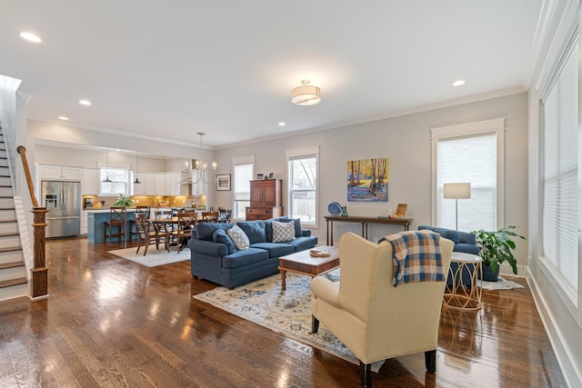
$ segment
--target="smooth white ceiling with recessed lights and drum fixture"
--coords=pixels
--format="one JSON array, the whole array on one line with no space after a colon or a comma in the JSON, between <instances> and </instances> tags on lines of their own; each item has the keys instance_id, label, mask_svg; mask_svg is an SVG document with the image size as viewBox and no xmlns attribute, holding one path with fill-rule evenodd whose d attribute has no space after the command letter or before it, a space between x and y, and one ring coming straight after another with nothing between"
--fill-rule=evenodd
<instances>
[{"instance_id":1,"label":"smooth white ceiling with recessed lights and drum fixture","mask_svg":"<svg viewBox=\"0 0 582 388\"><path fill-rule=\"evenodd\" d=\"M541 3L2 0L0 75L31 118L224 147L524 90Z\"/></svg>"}]
</instances>

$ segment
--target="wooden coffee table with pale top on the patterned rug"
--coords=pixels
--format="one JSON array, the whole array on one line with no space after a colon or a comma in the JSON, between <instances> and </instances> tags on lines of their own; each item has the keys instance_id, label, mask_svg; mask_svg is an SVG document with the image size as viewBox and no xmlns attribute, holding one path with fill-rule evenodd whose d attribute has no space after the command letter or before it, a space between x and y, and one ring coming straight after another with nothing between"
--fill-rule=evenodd
<instances>
[{"instance_id":1,"label":"wooden coffee table with pale top on the patterned rug","mask_svg":"<svg viewBox=\"0 0 582 388\"><path fill-rule=\"evenodd\" d=\"M327 251L330 253L327 257L312 257L309 254L310 249L288 254L279 257L279 272L281 273L281 290L285 291L285 278L287 272L294 274L306 274L307 276L317 276L326 274L339 266L339 249L335 246L321 245L313 249Z\"/></svg>"}]
</instances>

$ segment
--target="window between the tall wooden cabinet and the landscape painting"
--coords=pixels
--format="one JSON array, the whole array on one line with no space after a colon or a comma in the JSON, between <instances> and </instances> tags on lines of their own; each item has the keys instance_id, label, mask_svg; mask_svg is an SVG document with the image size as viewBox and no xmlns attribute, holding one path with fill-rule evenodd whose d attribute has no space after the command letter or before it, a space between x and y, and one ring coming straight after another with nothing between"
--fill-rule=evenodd
<instances>
[{"instance_id":1,"label":"window between the tall wooden cabinet and the landscape painting","mask_svg":"<svg viewBox=\"0 0 582 388\"><path fill-rule=\"evenodd\" d=\"M288 214L301 224L317 225L317 172L319 147L286 152L288 167Z\"/></svg>"}]
</instances>

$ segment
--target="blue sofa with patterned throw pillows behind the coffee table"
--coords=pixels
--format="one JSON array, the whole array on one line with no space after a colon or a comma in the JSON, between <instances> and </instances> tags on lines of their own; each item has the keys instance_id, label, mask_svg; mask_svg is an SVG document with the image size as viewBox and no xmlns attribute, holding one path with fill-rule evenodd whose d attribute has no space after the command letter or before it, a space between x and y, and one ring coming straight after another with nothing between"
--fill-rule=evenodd
<instances>
[{"instance_id":1,"label":"blue sofa with patterned throw pillows behind the coffee table","mask_svg":"<svg viewBox=\"0 0 582 388\"><path fill-rule=\"evenodd\" d=\"M273 221L295 223L295 240L273 243ZM301 228L299 219L277 217L266 221L238 222L250 242L246 250L237 250L226 232L235 224L196 224L196 233L188 240L190 272L193 276L234 288L278 272L279 257L311 249L317 237ZM224 231L224 232L218 232ZM229 241L230 240L230 241Z\"/></svg>"}]
</instances>

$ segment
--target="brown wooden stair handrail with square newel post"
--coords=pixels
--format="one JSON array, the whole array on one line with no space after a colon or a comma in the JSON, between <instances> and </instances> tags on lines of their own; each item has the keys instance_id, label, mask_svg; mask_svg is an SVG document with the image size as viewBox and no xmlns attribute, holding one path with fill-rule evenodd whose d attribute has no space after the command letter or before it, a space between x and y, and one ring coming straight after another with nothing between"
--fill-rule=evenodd
<instances>
[{"instance_id":1,"label":"brown wooden stair handrail with square newel post","mask_svg":"<svg viewBox=\"0 0 582 388\"><path fill-rule=\"evenodd\" d=\"M48 213L48 210L46 210L46 207L39 206L38 201L36 200L35 185L33 184L33 179L30 175L30 170L28 169L25 147L18 145L16 151L18 151L18 154L20 154L22 159L26 184L28 184L28 192L30 193L30 199L33 203L32 213L34 214L35 267L30 270L32 273L31 298L42 299L48 297L48 268L45 266L45 214Z\"/></svg>"}]
</instances>

